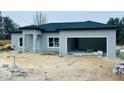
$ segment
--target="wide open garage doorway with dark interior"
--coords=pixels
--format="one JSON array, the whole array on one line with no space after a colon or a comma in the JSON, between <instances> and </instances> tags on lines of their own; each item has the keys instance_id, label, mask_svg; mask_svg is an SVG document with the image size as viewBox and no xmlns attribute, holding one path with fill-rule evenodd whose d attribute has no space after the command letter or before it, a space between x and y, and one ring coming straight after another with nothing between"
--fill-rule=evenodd
<instances>
[{"instance_id":1,"label":"wide open garage doorway with dark interior","mask_svg":"<svg viewBox=\"0 0 124 93\"><path fill-rule=\"evenodd\" d=\"M68 38L68 54L98 55L102 51L106 56L107 40L106 38Z\"/></svg>"}]
</instances>

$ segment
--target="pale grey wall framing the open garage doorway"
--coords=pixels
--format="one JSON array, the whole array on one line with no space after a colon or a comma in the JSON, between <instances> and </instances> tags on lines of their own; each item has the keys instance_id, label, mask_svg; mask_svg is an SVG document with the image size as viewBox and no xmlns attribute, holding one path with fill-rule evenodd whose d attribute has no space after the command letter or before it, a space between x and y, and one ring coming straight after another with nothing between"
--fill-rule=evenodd
<instances>
[{"instance_id":1,"label":"pale grey wall framing the open garage doorway","mask_svg":"<svg viewBox=\"0 0 124 93\"><path fill-rule=\"evenodd\" d=\"M67 38L107 38L107 57L116 56L116 30L72 30L60 31L60 55L67 55Z\"/></svg>"}]
</instances>

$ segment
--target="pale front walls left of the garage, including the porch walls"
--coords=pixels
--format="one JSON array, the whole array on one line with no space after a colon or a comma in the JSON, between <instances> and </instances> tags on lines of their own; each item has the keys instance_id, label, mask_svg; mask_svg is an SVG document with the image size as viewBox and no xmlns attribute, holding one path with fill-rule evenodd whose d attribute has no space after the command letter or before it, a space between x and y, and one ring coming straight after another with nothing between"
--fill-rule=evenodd
<instances>
[{"instance_id":1,"label":"pale front walls left of the garage, including the porch walls","mask_svg":"<svg viewBox=\"0 0 124 93\"><path fill-rule=\"evenodd\" d=\"M36 34L40 34L39 32L35 33L35 31L29 31L29 30L25 30L23 31L23 33L20 34L16 34L13 33L11 34L12 39L11 39L11 46L15 45L15 49L16 50L24 50L25 52L33 52L33 35ZM32 36L31 36L32 35ZM19 48L18 47L18 38L20 36L23 36L23 47ZM49 48L48 47L48 38L49 37L59 37L59 32L45 32L42 33L40 36L40 46L39 46L39 52L45 52L45 51L53 51L53 52L59 52L59 48ZM36 39L36 37L35 37ZM37 41L34 42L36 45L38 45Z\"/></svg>"}]
</instances>

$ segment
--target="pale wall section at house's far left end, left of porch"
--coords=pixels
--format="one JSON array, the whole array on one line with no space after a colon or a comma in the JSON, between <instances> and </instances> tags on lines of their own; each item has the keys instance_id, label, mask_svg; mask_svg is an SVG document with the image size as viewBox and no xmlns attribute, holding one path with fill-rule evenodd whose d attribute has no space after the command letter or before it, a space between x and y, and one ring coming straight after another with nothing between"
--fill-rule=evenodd
<instances>
[{"instance_id":1,"label":"pale wall section at house's far left end, left of porch","mask_svg":"<svg viewBox=\"0 0 124 93\"><path fill-rule=\"evenodd\" d=\"M11 47L15 48L16 50L22 49L21 47L19 47L19 37L22 37L21 33L11 34Z\"/></svg>"}]
</instances>

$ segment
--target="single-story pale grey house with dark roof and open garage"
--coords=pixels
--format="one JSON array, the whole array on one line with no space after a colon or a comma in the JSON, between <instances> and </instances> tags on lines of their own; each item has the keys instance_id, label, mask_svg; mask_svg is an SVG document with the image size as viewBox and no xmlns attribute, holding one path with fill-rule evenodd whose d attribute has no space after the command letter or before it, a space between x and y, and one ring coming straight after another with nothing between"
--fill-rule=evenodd
<instances>
[{"instance_id":1,"label":"single-story pale grey house with dark roof and open garage","mask_svg":"<svg viewBox=\"0 0 124 93\"><path fill-rule=\"evenodd\" d=\"M116 28L107 24L85 22L29 25L11 32L11 47L23 52L95 53L116 56Z\"/></svg>"}]
</instances>

